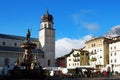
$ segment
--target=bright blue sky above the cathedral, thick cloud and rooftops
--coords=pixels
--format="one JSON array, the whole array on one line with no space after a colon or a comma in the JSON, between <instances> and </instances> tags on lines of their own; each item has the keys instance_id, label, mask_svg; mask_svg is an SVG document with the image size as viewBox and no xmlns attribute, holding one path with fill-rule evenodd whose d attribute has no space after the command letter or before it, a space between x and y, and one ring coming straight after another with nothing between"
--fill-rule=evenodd
<instances>
[{"instance_id":1,"label":"bright blue sky above the cathedral, thick cloud and rooftops","mask_svg":"<svg viewBox=\"0 0 120 80\"><path fill-rule=\"evenodd\" d=\"M120 24L120 0L0 0L0 33L38 38L41 16L54 17L56 43L102 36ZM73 43L74 44L74 43ZM73 47L74 48L74 47Z\"/></svg>"}]
</instances>

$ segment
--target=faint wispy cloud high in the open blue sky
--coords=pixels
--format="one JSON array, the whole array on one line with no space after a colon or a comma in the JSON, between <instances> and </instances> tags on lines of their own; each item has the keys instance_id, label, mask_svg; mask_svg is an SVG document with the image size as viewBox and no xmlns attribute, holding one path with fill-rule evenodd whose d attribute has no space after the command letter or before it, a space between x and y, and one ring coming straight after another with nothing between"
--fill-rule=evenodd
<instances>
[{"instance_id":1,"label":"faint wispy cloud high in the open blue sky","mask_svg":"<svg viewBox=\"0 0 120 80\"><path fill-rule=\"evenodd\" d=\"M96 31L100 28L98 23L96 23L95 21L88 21L90 18L94 17L94 15L95 12L93 10L80 10L79 13L73 14L72 18L73 22L76 25L80 27L85 27L89 31Z\"/></svg>"}]
</instances>

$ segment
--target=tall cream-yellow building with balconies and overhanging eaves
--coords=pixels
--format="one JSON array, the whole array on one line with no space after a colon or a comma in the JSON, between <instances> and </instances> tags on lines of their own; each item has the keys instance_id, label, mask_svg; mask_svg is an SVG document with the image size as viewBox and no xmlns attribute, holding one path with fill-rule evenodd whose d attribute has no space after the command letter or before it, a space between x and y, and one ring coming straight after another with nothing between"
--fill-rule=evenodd
<instances>
[{"instance_id":1,"label":"tall cream-yellow building with balconies and overhanging eaves","mask_svg":"<svg viewBox=\"0 0 120 80\"><path fill-rule=\"evenodd\" d=\"M89 63L94 67L105 67L109 64L109 41L111 39L98 37L86 41L85 50L89 51Z\"/></svg>"}]
</instances>

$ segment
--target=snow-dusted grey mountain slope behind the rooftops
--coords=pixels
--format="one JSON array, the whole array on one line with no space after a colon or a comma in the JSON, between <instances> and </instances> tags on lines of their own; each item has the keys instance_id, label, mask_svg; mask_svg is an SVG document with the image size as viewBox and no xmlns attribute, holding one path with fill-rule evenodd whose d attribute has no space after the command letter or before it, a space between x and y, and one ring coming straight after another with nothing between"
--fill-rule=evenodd
<instances>
[{"instance_id":1,"label":"snow-dusted grey mountain slope behind the rooftops","mask_svg":"<svg viewBox=\"0 0 120 80\"><path fill-rule=\"evenodd\" d=\"M106 37L120 36L120 25L114 26L105 34Z\"/></svg>"}]
</instances>

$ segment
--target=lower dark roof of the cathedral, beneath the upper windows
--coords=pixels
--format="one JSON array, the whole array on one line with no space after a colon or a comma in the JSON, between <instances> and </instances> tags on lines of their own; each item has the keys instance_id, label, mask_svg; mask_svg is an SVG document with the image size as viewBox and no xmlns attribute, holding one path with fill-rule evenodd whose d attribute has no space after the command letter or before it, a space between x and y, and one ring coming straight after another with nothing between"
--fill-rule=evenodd
<instances>
[{"instance_id":1,"label":"lower dark roof of the cathedral, beneath the upper windows","mask_svg":"<svg viewBox=\"0 0 120 80\"><path fill-rule=\"evenodd\" d=\"M3 51L13 51L13 52L24 52L24 49L22 49L20 47L10 47L10 46L0 46L0 50L3 50ZM44 53L40 49L34 49L34 50L32 50L32 52L33 53Z\"/></svg>"}]
</instances>

